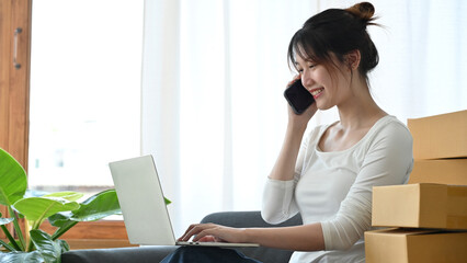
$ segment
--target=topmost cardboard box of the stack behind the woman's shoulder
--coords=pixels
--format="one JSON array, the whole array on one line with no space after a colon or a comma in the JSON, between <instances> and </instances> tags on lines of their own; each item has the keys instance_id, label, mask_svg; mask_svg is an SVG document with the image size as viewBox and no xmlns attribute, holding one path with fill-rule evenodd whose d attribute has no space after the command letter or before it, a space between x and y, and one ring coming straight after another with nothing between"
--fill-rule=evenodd
<instances>
[{"instance_id":1,"label":"topmost cardboard box of the stack behind the woman's shoulder","mask_svg":"<svg viewBox=\"0 0 467 263\"><path fill-rule=\"evenodd\" d=\"M467 111L409 118L414 159L467 157Z\"/></svg>"}]
</instances>

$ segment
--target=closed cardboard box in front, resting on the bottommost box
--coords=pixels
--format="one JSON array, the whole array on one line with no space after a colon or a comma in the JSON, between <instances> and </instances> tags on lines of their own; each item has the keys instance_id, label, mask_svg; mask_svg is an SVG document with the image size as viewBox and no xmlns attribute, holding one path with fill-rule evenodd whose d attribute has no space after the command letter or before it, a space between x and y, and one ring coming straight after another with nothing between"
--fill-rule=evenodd
<instances>
[{"instance_id":1,"label":"closed cardboard box in front, resting on the bottommost box","mask_svg":"<svg viewBox=\"0 0 467 263\"><path fill-rule=\"evenodd\" d=\"M467 230L467 186L375 186L372 226Z\"/></svg>"}]
</instances>

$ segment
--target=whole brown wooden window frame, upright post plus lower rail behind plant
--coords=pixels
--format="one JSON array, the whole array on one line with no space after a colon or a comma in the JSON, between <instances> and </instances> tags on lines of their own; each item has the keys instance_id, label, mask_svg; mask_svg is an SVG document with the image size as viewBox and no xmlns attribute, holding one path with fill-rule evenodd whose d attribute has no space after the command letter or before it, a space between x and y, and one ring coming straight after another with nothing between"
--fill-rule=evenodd
<instances>
[{"instance_id":1,"label":"whole brown wooden window frame, upright post plus lower rail behind plant","mask_svg":"<svg viewBox=\"0 0 467 263\"><path fill-rule=\"evenodd\" d=\"M16 31L18 28L21 28L21 33ZM26 171L30 132L31 31L32 0L1 0L0 147L10 152ZM20 66L15 67L13 60ZM0 211L8 216L7 207L0 206ZM8 225L9 230L14 232L10 225ZM24 226L23 222L23 230ZM55 230L48 222L41 229L49 233ZM1 231L0 238L5 238ZM61 239L68 241L71 249L132 245L123 220L79 222Z\"/></svg>"}]
</instances>

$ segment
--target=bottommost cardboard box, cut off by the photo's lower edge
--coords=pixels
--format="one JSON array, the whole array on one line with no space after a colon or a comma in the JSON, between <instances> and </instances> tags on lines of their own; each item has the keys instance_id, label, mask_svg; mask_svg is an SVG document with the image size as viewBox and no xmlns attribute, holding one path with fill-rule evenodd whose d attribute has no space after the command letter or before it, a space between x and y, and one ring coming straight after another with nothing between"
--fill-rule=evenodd
<instances>
[{"instance_id":1,"label":"bottommost cardboard box, cut off by the photo's lower edge","mask_svg":"<svg viewBox=\"0 0 467 263\"><path fill-rule=\"evenodd\" d=\"M386 229L365 232L366 263L467 262L467 232Z\"/></svg>"}]
</instances>

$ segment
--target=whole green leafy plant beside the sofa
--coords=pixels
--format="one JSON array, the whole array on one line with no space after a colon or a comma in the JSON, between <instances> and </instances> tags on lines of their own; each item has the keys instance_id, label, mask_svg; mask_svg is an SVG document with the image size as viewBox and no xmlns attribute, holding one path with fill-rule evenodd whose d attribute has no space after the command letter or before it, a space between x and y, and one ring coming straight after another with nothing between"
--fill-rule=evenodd
<instances>
[{"instance_id":1,"label":"whole green leafy plant beside the sofa","mask_svg":"<svg viewBox=\"0 0 467 263\"><path fill-rule=\"evenodd\" d=\"M0 240L0 262L60 262L61 253L69 250L66 241L58 238L80 221L94 221L119 214L115 190L106 190L82 203L82 194L58 192L41 197L26 197L27 176L21 164L7 151L0 149L0 205L9 210L9 218L0 214L0 227L9 242ZM23 233L19 218L29 222L29 236ZM48 219L57 227L54 235L41 230ZM7 229L13 224L19 239Z\"/></svg>"}]
</instances>

